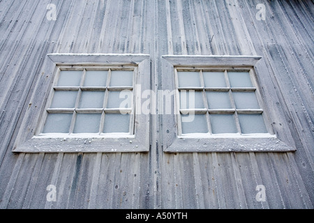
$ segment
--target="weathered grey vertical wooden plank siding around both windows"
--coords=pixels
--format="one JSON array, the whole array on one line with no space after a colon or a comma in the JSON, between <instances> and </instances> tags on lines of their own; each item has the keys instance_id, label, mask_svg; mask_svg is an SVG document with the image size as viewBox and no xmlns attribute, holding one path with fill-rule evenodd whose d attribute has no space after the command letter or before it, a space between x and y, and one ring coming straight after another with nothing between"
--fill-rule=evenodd
<instances>
[{"instance_id":1,"label":"weathered grey vertical wooden plank siding around both windows","mask_svg":"<svg viewBox=\"0 0 314 223\"><path fill-rule=\"evenodd\" d=\"M301 0L1 0L0 208L313 208L313 11ZM151 115L149 153L13 153L36 128L50 53L150 54L154 91L165 54L262 56L272 82L262 94L281 121L273 125L297 151L163 153L163 117Z\"/></svg>"}]
</instances>

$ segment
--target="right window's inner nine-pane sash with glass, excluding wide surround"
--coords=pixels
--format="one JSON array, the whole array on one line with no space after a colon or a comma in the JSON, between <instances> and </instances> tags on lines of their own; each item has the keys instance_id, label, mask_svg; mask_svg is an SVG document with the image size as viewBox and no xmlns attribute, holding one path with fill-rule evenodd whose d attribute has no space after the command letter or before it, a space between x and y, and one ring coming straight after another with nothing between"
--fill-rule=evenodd
<instances>
[{"instance_id":1,"label":"right window's inner nine-pane sash with glass, excluding wide surround","mask_svg":"<svg viewBox=\"0 0 314 223\"><path fill-rule=\"evenodd\" d=\"M174 76L179 137L271 135L253 68L174 68Z\"/></svg>"}]
</instances>

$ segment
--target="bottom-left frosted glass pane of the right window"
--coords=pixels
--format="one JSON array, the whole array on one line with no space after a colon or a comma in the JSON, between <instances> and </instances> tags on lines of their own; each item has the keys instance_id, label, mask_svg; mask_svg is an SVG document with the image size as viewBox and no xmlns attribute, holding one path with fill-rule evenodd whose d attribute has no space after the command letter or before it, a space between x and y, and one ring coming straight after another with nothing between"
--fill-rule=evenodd
<instances>
[{"instance_id":1,"label":"bottom-left frosted glass pane of the right window","mask_svg":"<svg viewBox=\"0 0 314 223\"><path fill-rule=\"evenodd\" d=\"M188 118L188 116L190 116L190 118ZM208 132L206 116L204 114L181 114L181 121L183 134Z\"/></svg>"}]
</instances>

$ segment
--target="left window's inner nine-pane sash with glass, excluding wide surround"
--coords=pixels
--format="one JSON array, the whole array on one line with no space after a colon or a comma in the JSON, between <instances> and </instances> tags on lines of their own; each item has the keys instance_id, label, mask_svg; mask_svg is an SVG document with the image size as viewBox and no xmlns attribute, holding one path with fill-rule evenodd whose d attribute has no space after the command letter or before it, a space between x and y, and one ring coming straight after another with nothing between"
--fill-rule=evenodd
<instances>
[{"instance_id":1,"label":"left window's inner nine-pane sash with glass, excluding wide surround","mask_svg":"<svg viewBox=\"0 0 314 223\"><path fill-rule=\"evenodd\" d=\"M38 136L133 135L136 66L60 66Z\"/></svg>"}]
</instances>

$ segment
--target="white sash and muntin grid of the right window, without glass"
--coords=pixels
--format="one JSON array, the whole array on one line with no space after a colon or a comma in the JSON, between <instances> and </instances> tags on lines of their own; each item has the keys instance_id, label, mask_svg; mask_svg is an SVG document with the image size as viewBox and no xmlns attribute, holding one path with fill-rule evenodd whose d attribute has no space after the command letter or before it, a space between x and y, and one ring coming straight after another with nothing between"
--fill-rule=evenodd
<instances>
[{"instance_id":1,"label":"white sash and muntin grid of the right window, without glass","mask_svg":"<svg viewBox=\"0 0 314 223\"><path fill-rule=\"evenodd\" d=\"M199 72L200 73L200 82L201 86L200 87L179 87L178 85L178 72L181 71L192 71L192 72ZM214 88L209 88L204 86L204 77L203 77L203 72L224 72L225 75L225 82L227 83L227 86L225 87L214 87ZM230 83L227 78L227 71L235 71L235 72L248 72L250 75L251 82L253 84L252 87L241 87L241 88L234 88L230 86ZM176 93L174 95L174 101L177 102L176 104L176 114L177 114L177 123L178 123L178 137L179 138L230 138L230 137L276 137L274 135L274 130L271 128L271 125L269 123L269 117L267 116L267 112L264 112L264 105L262 102L262 96L260 95L260 90L257 86L257 82L255 77L255 72L254 69L251 67L241 67L241 68L231 68L231 67L216 67L216 68L188 68L188 67L174 67L174 84L175 84L175 89ZM179 108L179 91L182 90L194 90L194 91L202 91L203 95L203 104L204 108L203 109L180 109ZM209 109L208 104L207 104L207 91L209 92L227 92L229 94L229 99L230 103L233 108L231 109ZM235 107L235 102L234 98L232 96L232 92L254 92L256 97L257 97L257 102L258 105L260 106L259 109L237 109ZM194 114L205 114L207 118L207 127L209 129L208 133L188 133L188 134L183 134L182 133L182 128L181 128L181 113L188 113L188 112L193 112ZM223 134L214 134L212 133L211 130L211 121L209 118L209 114L234 114L235 118L235 123L238 132L237 133L223 133ZM250 133L250 134L244 134L241 132L241 127L239 123L239 118L237 117L238 114L262 114L264 124L266 125L267 128L267 133Z\"/></svg>"}]
</instances>

